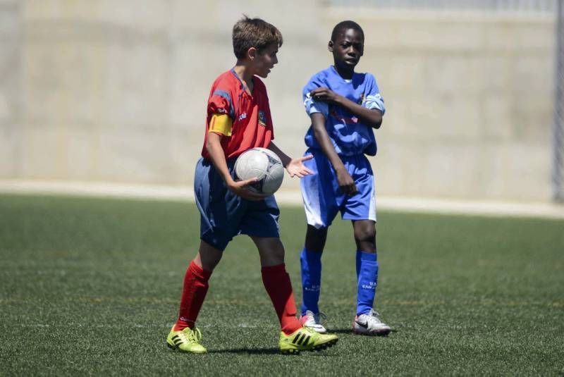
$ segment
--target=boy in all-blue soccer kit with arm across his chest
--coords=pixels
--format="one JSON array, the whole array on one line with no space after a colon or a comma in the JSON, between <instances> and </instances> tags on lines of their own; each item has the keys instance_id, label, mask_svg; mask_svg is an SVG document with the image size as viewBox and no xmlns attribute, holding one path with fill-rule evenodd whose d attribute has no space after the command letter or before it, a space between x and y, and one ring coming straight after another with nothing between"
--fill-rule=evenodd
<instances>
[{"instance_id":1,"label":"boy in all-blue soccer kit with arm across his chest","mask_svg":"<svg viewBox=\"0 0 564 377\"><path fill-rule=\"evenodd\" d=\"M357 23L343 21L331 33L329 51L334 65L316 73L303 89L312 125L305 135L305 161L314 174L302 178L307 217L302 268L300 321L319 333L321 254L327 229L338 211L353 223L357 245L357 309L353 330L366 335L388 335L391 328L373 309L378 281L374 175L365 154L376 154L373 128L380 128L386 109L374 76L355 73L364 50L364 32Z\"/></svg>"}]
</instances>

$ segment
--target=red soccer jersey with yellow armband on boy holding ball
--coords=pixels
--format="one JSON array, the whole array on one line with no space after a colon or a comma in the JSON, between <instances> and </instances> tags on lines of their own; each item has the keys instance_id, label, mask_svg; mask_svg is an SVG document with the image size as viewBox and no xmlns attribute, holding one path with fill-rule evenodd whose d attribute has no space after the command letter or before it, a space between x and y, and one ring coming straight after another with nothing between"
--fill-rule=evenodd
<instances>
[{"instance_id":1,"label":"red soccer jersey with yellow armband on boy holding ball","mask_svg":"<svg viewBox=\"0 0 564 377\"><path fill-rule=\"evenodd\" d=\"M233 69L222 73L214 81L207 101L206 136L202 148L204 159L209 159L206 150L208 132L225 136L221 139L221 147L226 159L247 149L266 148L274 139L266 87L256 76L253 83L251 96Z\"/></svg>"}]
</instances>

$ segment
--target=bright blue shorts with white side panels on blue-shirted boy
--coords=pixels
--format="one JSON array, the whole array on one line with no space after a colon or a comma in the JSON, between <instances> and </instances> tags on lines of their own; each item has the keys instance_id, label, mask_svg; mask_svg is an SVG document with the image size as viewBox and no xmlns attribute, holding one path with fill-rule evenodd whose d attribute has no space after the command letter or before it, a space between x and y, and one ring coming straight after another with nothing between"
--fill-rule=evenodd
<instances>
[{"instance_id":1,"label":"bright blue shorts with white side panels on blue-shirted boy","mask_svg":"<svg viewBox=\"0 0 564 377\"><path fill-rule=\"evenodd\" d=\"M305 166L314 173L301 180L305 216L309 225L317 229L327 228L339 211L343 220L376 221L374 173L364 154L340 156L357 186L358 192L354 195L341 192L333 166L323 152L308 149L305 154L314 156L304 161Z\"/></svg>"}]
</instances>

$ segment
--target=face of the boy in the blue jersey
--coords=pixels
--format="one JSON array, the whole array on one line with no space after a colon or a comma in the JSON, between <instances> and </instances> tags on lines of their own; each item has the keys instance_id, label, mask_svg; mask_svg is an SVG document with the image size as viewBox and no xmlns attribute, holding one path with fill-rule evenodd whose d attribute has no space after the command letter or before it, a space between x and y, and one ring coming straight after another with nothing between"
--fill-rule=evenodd
<instances>
[{"instance_id":1,"label":"face of the boy in the blue jersey","mask_svg":"<svg viewBox=\"0 0 564 377\"><path fill-rule=\"evenodd\" d=\"M364 53L362 34L355 29L341 30L334 41L329 41L329 51L338 68L354 70Z\"/></svg>"}]
</instances>

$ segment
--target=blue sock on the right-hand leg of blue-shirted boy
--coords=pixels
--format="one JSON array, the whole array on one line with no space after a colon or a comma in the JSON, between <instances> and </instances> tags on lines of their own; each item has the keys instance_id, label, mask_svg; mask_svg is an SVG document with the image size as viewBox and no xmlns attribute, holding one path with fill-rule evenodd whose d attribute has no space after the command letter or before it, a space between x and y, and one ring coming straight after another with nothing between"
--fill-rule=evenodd
<instances>
[{"instance_id":1,"label":"blue sock on the right-hand leg of blue-shirted boy","mask_svg":"<svg viewBox=\"0 0 564 377\"><path fill-rule=\"evenodd\" d=\"M357 251L357 271L357 315L367 314L374 305L376 285L378 284L376 253Z\"/></svg>"}]
</instances>

